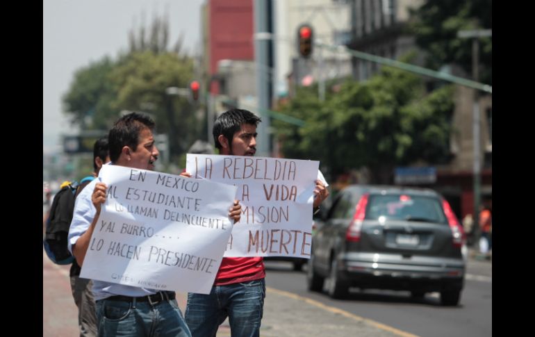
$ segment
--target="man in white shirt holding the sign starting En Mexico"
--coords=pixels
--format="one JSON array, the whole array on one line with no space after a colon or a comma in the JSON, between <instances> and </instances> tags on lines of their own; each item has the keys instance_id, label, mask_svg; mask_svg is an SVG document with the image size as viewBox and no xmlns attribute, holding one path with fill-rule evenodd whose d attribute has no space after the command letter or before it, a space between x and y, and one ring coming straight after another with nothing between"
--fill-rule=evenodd
<instances>
[{"instance_id":1,"label":"man in white shirt holding the sign starting En Mexico","mask_svg":"<svg viewBox=\"0 0 535 337\"><path fill-rule=\"evenodd\" d=\"M152 133L154 126L149 117L138 113L130 113L117 120L108 135L112 163L154 170L154 162L159 154ZM101 214L101 205L106 202L108 192L112 197L113 191L108 191L106 184L94 179L76 198L68 243L69 250L82 267L92 234L97 231L95 227ZM229 217L239 221L240 210L240 205L235 201ZM119 253L121 256L135 256L137 252L130 252L129 248L120 249ZM97 280L94 280L92 290L97 306L99 336L191 336L172 291Z\"/></svg>"}]
</instances>

